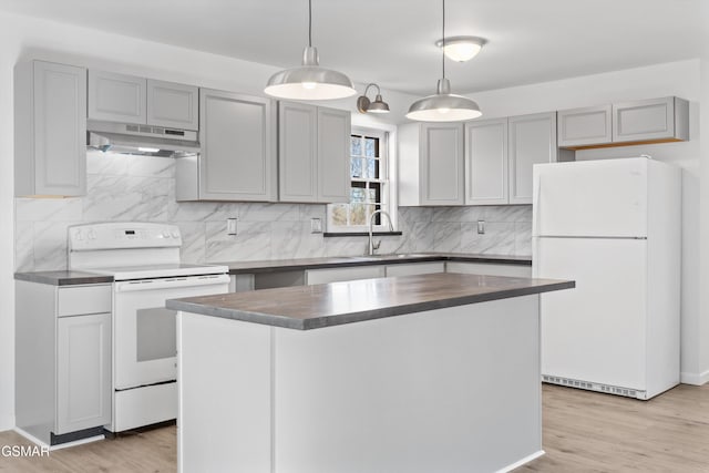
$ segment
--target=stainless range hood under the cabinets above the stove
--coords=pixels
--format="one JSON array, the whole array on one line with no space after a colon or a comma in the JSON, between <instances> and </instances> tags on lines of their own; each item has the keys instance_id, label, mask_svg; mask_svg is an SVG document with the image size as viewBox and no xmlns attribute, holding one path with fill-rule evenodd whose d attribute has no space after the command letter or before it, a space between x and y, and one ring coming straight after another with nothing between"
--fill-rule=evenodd
<instances>
[{"instance_id":1,"label":"stainless range hood under the cabinets above the stove","mask_svg":"<svg viewBox=\"0 0 709 473\"><path fill-rule=\"evenodd\" d=\"M185 157L199 153L195 131L96 120L86 121L86 146L142 156Z\"/></svg>"}]
</instances>

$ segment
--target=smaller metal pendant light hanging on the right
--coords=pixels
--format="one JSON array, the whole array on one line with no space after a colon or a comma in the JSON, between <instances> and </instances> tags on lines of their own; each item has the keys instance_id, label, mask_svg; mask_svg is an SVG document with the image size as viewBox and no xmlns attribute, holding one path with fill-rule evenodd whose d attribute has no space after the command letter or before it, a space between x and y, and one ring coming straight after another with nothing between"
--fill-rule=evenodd
<instances>
[{"instance_id":1,"label":"smaller metal pendant light hanging on the right","mask_svg":"<svg viewBox=\"0 0 709 473\"><path fill-rule=\"evenodd\" d=\"M443 3L443 45L445 45L445 0ZM462 95L451 93L451 82L445 79L445 53L441 49L443 76L436 92L413 102L407 119L420 122L463 122L482 115L477 104Z\"/></svg>"}]
</instances>

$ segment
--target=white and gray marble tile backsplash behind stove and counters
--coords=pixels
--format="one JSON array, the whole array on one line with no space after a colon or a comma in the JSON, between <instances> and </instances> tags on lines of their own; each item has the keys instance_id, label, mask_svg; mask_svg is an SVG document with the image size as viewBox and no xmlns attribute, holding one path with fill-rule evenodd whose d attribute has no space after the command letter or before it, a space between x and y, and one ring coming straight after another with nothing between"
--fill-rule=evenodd
<instances>
[{"instance_id":1,"label":"white and gray marble tile backsplash behind stove and counters","mask_svg":"<svg viewBox=\"0 0 709 473\"><path fill-rule=\"evenodd\" d=\"M325 205L176 203L175 161L164 157L88 154L84 197L17 198L16 270L66 267L66 228L92 222L168 222L179 226L184 263L217 263L318 256L354 256L366 237L323 238L310 218ZM226 219L238 218L227 236ZM486 232L477 234L476 220ZM531 206L400 207L402 236L382 238L379 253L454 251L530 255Z\"/></svg>"}]
</instances>

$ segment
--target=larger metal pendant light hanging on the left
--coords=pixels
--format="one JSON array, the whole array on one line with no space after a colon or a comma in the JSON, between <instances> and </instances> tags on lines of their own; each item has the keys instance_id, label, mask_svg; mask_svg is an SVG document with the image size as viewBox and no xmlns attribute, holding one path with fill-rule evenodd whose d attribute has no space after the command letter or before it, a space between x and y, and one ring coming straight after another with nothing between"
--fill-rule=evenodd
<instances>
[{"instance_id":1,"label":"larger metal pendant light hanging on the left","mask_svg":"<svg viewBox=\"0 0 709 473\"><path fill-rule=\"evenodd\" d=\"M319 65L318 50L312 47L311 0L308 0L308 45L302 51L302 65L271 75L264 92L292 100L343 99L357 93L347 75Z\"/></svg>"}]
</instances>

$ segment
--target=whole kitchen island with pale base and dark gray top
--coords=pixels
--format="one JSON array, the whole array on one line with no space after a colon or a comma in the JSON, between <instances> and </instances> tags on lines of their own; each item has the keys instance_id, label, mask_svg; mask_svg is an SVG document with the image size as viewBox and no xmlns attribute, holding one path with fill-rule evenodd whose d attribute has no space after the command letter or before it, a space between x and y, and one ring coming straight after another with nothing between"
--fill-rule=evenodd
<instances>
[{"instance_id":1,"label":"whole kitchen island with pale base and dark gray top","mask_svg":"<svg viewBox=\"0 0 709 473\"><path fill-rule=\"evenodd\" d=\"M433 274L168 300L182 472L493 472L542 451L541 292Z\"/></svg>"}]
</instances>

